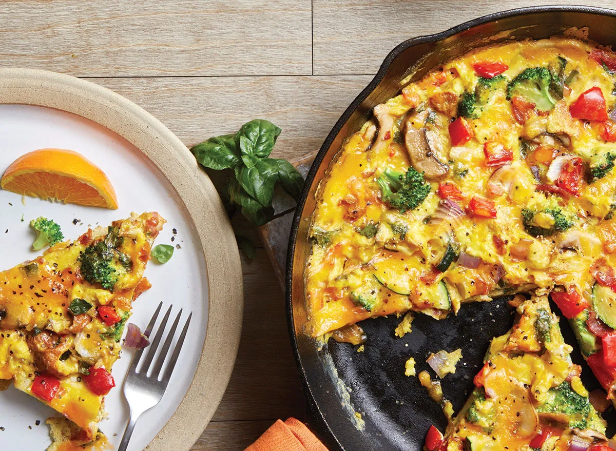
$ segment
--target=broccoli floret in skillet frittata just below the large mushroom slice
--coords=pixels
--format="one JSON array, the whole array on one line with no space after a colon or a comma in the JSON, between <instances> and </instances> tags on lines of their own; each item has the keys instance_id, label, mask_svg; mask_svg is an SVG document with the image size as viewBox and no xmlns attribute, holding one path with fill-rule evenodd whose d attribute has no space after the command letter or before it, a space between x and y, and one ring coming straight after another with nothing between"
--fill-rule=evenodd
<instances>
[{"instance_id":1,"label":"broccoli floret in skillet frittata just below the large mushroom slice","mask_svg":"<svg viewBox=\"0 0 616 451\"><path fill-rule=\"evenodd\" d=\"M381 188L381 198L401 213L417 208L430 192L423 173L413 168L408 168L406 173L387 168L376 182Z\"/></svg>"}]
</instances>

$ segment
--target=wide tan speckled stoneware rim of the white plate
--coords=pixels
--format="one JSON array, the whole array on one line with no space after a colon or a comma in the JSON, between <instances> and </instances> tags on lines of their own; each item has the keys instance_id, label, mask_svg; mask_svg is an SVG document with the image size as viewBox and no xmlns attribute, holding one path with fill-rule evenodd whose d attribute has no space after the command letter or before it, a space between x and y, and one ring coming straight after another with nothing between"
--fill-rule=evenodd
<instances>
[{"instance_id":1,"label":"wide tan speckled stoneware rim of the white plate","mask_svg":"<svg viewBox=\"0 0 616 451\"><path fill-rule=\"evenodd\" d=\"M221 402L235 365L243 319L243 280L235 235L214 185L184 143L144 108L98 84L29 68L0 68L0 105L73 113L134 145L184 203L200 240L208 281L208 325L193 380L169 421L145 447L189 450ZM208 237L216 237L208 240ZM190 421L185 421L190 418Z\"/></svg>"}]
</instances>

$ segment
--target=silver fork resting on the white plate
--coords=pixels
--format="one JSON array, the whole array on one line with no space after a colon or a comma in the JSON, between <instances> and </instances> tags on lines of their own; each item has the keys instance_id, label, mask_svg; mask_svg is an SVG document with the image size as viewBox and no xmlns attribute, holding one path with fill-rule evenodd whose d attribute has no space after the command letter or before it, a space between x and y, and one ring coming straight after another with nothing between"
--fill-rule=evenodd
<instances>
[{"instance_id":1,"label":"silver fork resting on the white plate","mask_svg":"<svg viewBox=\"0 0 616 451\"><path fill-rule=\"evenodd\" d=\"M149 337L150 333L152 333L152 329L154 328L154 324L156 323L156 319L158 318L158 314L160 313L162 306L163 303L161 302L158 304L158 307L156 307L156 311L154 312L148 327L144 331L145 336ZM167 325L167 320L169 319L169 314L171 314L172 307L173 305L169 306L169 309L164 315L163 320L156 331L156 335L152 340L152 343L150 343L150 346L135 352L134 357L132 357L131 367L128 368L128 373L126 374L126 379L124 380L124 396L126 396L128 405L131 408L131 419L128 421L126 429L124 429L124 436L122 437L118 451L126 451L126 447L128 447L128 442L131 439L132 431L135 429L135 424L137 423L139 416L160 402L164 391L167 389L169 384L169 379L171 379L173 368L176 366L177 357L180 355L180 350L182 349L182 344L184 343L184 338L186 336L186 331L188 330L188 325L190 324L192 312L188 315L188 319L184 324L182 333L180 333L180 338L177 340L176 346L173 349L171 359L169 360L169 365L167 366L164 374L161 374L164 359L167 357L169 347L171 347L171 342L173 341L173 336L176 333L177 323L179 323L180 316L182 315L182 309L180 309L176 320L173 322L173 325L169 330L167 339L164 341L163 348L160 351L158 359L156 359L155 364L152 365L152 360L154 359L156 350L158 349L158 344L160 344L160 340L163 338L164 328ZM147 355L145 356L144 364L142 365L141 370L137 372L137 366L139 365L139 360L141 360L141 356L144 351L147 351ZM148 376L148 373L150 372L152 374ZM159 381L158 379L161 376L162 378Z\"/></svg>"}]
</instances>

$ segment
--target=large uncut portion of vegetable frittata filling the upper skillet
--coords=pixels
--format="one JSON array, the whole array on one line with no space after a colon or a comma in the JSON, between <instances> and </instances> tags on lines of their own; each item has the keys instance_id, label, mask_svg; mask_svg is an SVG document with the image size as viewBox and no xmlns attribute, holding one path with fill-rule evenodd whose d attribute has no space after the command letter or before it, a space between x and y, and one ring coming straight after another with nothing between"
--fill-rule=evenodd
<instances>
[{"instance_id":1,"label":"large uncut portion of vegetable frittata filling the upper skillet","mask_svg":"<svg viewBox=\"0 0 616 451\"><path fill-rule=\"evenodd\" d=\"M616 402L615 81L594 43L509 41L377 105L317 190L307 332L555 290Z\"/></svg>"}]
</instances>

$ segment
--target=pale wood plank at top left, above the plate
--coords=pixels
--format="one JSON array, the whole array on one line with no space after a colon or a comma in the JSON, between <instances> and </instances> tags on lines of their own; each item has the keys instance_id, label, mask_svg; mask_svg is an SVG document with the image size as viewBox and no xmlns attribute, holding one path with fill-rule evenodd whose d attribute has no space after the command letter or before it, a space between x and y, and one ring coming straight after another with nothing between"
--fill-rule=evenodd
<instances>
[{"instance_id":1,"label":"pale wood plank at top left, above the plate","mask_svg":"<svg viewBox=\"0 0 616 451\"><path fill-rule=\"evenodd\" d=\"M2 1L3 66L76 76L312 73L310 0Z\"/></svg>"}]
</instances>

